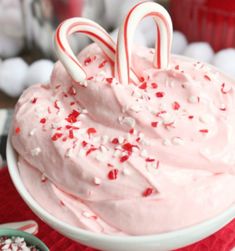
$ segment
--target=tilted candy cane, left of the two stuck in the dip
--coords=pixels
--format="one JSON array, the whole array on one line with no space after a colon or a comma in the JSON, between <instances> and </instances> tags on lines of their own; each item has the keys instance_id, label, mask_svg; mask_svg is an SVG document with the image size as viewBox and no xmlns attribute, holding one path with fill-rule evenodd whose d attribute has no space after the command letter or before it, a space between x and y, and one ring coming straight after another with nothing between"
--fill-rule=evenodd
<instances>
[{"instance_id":1,"label":"tilted candy cane, left of the two stuck in the dip","mask_svg":"<svg viewBox=\"0 0 235 251\"><path fill-rule=\"evenodd\" d=\"M54 40L57 55L73 80L80 82L84 81L87 75L68 42L68 36L75 32L83 33L94 40L113 62L116 45L100 25L89 19L75 17L67 19L59 25Z\"/></svg>"}]
</instances>

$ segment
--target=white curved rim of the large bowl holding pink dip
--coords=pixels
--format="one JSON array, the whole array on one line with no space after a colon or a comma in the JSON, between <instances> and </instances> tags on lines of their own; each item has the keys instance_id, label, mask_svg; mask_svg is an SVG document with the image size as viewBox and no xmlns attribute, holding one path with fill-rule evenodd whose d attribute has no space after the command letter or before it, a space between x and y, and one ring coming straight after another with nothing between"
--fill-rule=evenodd
<instances>
[{"instance_id":1,"label":"white curved rim of the large bowl holding pink dip","mask_svg":"<svg viewBox=\"0 0 235 251\"><path fill-rule=\"evenodd\" d=\"M7 163L8 163L8 170L11 176L11 179L14 183L14 186L16 187L16 190L18 193L21 195L21 197L24 199L26 204L30 207L30 209L34 212L37 212L36 214L38 215L43 215L40 218L43 218L43 221L46 224L49 224L50 226L53 226L53 228L58 227L59 229L64 229L68 231L69 233L80 235L82 238L93 238L97 239L99 241L112 241L112 242L120 242L120 241L125 241L126 243L140 243L143 241L151 241L151 240L166 240L166 239L171 239L175 238L176 236L184 236L188 235L190 233L195 233L201 229L206 229L208 226L213 225L215 222L220 222L224 218L229 218L230 220L225 222L224 225L226 225L228 222L233 220L235 218L235 204L232 205L231 207L227 208L220 214L216 215L215 217L212 217L208 220L205 220L203 222L200 222L198 224L185 227L179 230L173 230L170 232L164 232L164 233L159 233L159 234L151 234L151 235L108 235L108 234L102 234L102 233L95 233L89 230L85 230L76 226L69 225L66 222L63 222L62 220L54 217L52 214L47 212L44 208L42 208L36 200L33 199L31 194L27 191L26 187L24 186L23 181L20 178L20 174L18 171L18 166L17 166L17 153L13 149L13 146L11 144L11 129L8 134L8 139L7 139Z\"/></svg>"}]
</instances>

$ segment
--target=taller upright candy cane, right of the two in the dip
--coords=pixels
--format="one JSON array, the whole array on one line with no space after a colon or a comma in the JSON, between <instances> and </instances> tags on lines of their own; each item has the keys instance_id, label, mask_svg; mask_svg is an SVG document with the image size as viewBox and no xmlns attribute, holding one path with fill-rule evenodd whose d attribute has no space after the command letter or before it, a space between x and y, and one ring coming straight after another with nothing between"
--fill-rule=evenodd
<instances>
[{"instance_id":1,"label":"taller upright candy cane, right of the two in the dip","mask_svg":"<svg viewBox=\"0 0 235 251\"><path fill-rule=\"evenodd\" d=\"M134 31L138 23L147 16L153 17L157 25L154 66L157 69L168 67L172 41L171 18L161 5L141 2L130 10L118 33L115 76L121 83L130 81L130 56Z\"/></svg>"}]
</instances>

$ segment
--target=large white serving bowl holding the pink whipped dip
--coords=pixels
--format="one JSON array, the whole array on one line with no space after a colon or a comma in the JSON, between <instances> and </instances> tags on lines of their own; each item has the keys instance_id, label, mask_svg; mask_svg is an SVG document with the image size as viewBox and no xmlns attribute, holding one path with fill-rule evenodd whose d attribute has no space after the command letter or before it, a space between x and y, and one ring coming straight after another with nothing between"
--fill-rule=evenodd
<instances>
[{"instance_id":1,"label":"large white serving bowl holding the pink whipped dip","mask_svg":"<svg viewBox=\"0 0 235 251\"><path fill-rule=\"evenodd\" d=\"M197 242L225 226L235 217L235 205L218 216L192 227L163 234L147 236L110 236L97 234L68 225L49 214L30 195L25 188L17 167L17 154L10 142L7 142L7 161L12 181L21 197L32 211L52 228L84 245L103 251L163 251L172 250ZM203 210L203 208L202 208Z\"/></svg>"}]
</instances>

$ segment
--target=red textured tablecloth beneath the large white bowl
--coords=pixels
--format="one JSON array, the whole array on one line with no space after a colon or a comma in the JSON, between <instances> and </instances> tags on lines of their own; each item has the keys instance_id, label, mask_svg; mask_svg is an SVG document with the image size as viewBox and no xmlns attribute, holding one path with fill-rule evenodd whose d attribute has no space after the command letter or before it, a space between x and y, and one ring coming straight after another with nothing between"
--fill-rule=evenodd
<instances>
[{"instance_id":1,"label":"red textured tablecloth beneath the large white bowl","mask_svg":"<svg viewBox=\"0 0 235 251\"><path fill-rule=\"evenodd\" d=\"M63 237L41 221L24 203L11 182L7 168L0 171L0 223L34 219L39 237L51 251L95 251ZM235 247L235 220L214 235L177 251L231 251ZM145 251L145 250L143 250Z\"/></svg>"}]
</instances>

